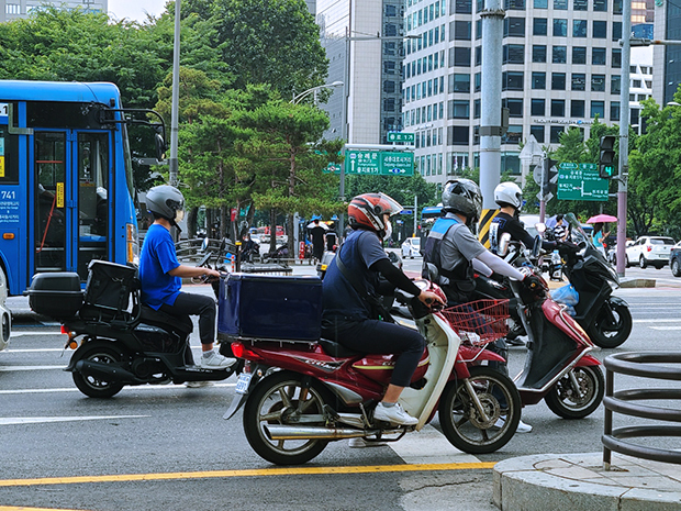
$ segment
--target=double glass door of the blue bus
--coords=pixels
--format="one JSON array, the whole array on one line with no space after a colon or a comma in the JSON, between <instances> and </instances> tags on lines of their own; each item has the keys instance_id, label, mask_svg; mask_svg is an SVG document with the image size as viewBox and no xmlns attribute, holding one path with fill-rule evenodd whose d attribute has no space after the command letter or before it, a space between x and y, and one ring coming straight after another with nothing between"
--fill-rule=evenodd
<instances>
[{"instance_id":1,"label":"double glass door of the blue bus","mask_svg":"<svg viewBox=\"0 0 681 511\"><path fill-rule=\"evenodd\" d=\"M34 132L34 273L77 271L108 259L109 133Z\"/></svg>"}]
</instances>

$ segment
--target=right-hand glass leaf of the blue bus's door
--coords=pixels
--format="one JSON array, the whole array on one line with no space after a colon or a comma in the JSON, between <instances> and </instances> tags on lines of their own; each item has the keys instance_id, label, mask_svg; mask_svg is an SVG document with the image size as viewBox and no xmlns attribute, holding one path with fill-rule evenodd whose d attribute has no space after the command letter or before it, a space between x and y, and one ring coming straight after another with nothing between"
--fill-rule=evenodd
<instances>
[{"instance_id":1,"label":"right-hand glass leaf of the blue bus's door","mask_svg":"<svg viewBox=\"0 0 681 511\"><path fill-rule=\"evenodd\" d=\"M78 134L78 274L107 259L109 238L109 134Z\"/></svg>"}]
</instances>

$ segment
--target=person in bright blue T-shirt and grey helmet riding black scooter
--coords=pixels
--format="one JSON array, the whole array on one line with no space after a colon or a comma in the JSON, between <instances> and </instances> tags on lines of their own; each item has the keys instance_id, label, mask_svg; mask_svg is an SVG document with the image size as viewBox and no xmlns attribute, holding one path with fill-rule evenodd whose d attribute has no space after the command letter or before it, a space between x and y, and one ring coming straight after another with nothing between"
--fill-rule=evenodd
<instances>
[{"instance_id":1,"label":"person in bright blue T-shirt and grey helmet riding black scooter","mask_svg":"<svg viewBox=\"0 0 681 511\"><path fill-rule=\"evenodd\" d=\"M217 277L220 273L202 267L180 265L170 227L185 216L185 197L175 187L161 185L146 195L146 205L154 215L139 255L142 303L170 315L199 315L199 336L204 369L226 369L236 363L213 349L215 340L215 300L202 295L181 292L182 278ZM178 227L179 229L179 227Z\"/></svg>"}]
</instances>

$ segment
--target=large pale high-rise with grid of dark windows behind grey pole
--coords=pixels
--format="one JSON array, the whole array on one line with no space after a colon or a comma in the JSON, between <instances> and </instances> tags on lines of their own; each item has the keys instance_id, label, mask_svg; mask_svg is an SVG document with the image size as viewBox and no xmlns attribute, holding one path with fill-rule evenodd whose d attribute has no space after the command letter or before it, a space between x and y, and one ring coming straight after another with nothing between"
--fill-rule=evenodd
<instances>
[{"instance_id":1,"label":"large pale high-rise with grid of dark windows behind grey pole","mask_svg":"<svg viewBox=\"0 0 681 511\"><path fill-rule=\"evenodd\" d=\"M443 184L479 166L483 0L406 0L403 124L422 175ZM622 0L505 0L501 170L520 143L558 144L569 125L619 121Z\"/></svg>"}]
</instances>

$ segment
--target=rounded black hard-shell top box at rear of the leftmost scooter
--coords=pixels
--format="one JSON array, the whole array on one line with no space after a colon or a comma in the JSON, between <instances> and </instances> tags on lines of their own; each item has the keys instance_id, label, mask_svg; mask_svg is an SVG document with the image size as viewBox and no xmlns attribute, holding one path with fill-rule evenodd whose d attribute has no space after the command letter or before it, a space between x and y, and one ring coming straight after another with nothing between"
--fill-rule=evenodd
<instances>
[{"instance_id":1,"label":"rounded black hard-shell top box at rear of the leftmost scooter","mask_svg":"<svg viewBox=\"0 0 681 511\"><path fill-rule=\"evenodd\" d=\"M74 318L82 307L80 276L70 271L35 274L29 288L29 306L56 320Z\"/></svg>"}]
</instances>

